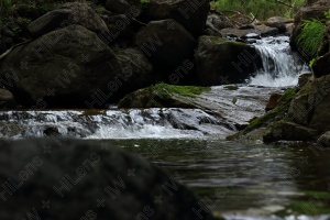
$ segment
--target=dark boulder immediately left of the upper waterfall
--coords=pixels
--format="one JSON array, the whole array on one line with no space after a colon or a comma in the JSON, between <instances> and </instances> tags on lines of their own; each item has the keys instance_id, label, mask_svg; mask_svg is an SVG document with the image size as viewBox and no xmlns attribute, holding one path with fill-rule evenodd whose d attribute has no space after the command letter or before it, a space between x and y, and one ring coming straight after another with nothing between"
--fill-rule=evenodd
<instances>
[{"instance_id":1,"label":"dark boulder immediately left of the upper waterfall","mask_svg":"<svg viewBox=\"0 0 330 220\"><path fill-rule=\"evenodd\" d=\"M244 82L262 68L254 47L217 36L199 37L195 58L201 86Z\"/></svg>"}]
</instances>

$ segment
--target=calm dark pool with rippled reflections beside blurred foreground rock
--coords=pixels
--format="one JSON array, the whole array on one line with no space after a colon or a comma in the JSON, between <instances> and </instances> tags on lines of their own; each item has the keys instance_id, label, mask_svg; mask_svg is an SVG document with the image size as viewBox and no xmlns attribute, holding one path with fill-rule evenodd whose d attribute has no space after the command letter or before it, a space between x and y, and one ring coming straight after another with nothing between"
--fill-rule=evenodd
<instances>
[{"instance_id":1,"label":"calm dark pool with rippled reflections beside blurred foreground rock","mask_svg":"<svg viewBox=\"0 0 330 220\"><path fill-rule=\"evenodd\" d=\"M330 151L316 155L307 145L246 145L220 140L102 142L140 154L169 174L177 172L205 202L212 201L209 207L213 211L229 219L249 219L232 217L245 212L330 213Z\"/></svg>"}]
</instances>

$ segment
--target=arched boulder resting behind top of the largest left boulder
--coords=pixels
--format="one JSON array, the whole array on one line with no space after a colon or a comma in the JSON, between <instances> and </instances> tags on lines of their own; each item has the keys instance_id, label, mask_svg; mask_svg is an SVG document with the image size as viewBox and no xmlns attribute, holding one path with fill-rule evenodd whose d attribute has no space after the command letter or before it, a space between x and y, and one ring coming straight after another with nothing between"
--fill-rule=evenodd
<instances>
[{"instance_id":1,"label":"arched boulder resting behind top of the largest left boulder","mask_svg":"<svg viewBox=\"0 0 330 220\"><path fill-rule=\"evenodd\" d=\"M105 21L86 3L65 3L29 24L33 35L42 35L56 29L79 24L96 33L109 32Z\"/></svg>"}]
</instances>

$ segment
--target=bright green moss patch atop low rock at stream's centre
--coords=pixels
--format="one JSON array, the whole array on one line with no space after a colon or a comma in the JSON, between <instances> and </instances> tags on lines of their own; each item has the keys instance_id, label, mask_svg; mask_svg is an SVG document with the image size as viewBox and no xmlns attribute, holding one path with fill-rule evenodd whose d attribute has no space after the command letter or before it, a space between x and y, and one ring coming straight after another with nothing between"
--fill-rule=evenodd
<instances>
[{"instance_id":1,"label":"bright green moss patch atop low rock at stream's centre","mask_svg":"<svg viewBox=\"0 0 330 220\"><path fill-rule=\"evenodd\" d=\"M172 94L177 94L185 97L196 97L204 91L209 91L209 87L198 87L198 86L174 86L168 84L157 84L150 87L152 90L155 90L157 94L163 96L170 96Z\"/></svg>"}]
</instances>

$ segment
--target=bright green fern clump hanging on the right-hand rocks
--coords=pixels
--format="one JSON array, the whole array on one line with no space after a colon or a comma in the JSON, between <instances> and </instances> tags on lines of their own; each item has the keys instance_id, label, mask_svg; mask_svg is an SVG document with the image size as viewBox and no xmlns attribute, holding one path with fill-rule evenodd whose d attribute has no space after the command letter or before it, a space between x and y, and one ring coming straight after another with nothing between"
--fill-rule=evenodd
<instances>
[{"instance_id":1,"label":"bright green fern clump hanging on the right-hand rocks","mask_svg":"<svg viewBox=\"0 0 330 220\"><path fill-rule=\"evenodd\" d=\"M297 36L297 45L309 58L315 58L318 55L324 33L326 25L320 20L305 20L301 24L301 32Z\"/></svg>"}]
</instances>

